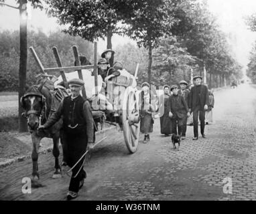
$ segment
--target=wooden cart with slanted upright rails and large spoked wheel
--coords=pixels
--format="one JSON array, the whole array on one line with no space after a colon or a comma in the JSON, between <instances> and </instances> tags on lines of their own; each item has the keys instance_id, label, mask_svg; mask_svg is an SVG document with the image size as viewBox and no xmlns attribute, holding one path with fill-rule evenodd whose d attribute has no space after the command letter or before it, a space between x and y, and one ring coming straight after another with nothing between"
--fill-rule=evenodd
<instances>
[{"instance_id":1,"label":"wooden cart with slanted upright rails and large spoked wheel","mask_svg":"<svg viewBox=\"0 0 256 214\"><path fill-rule=\"evenodd\" d=\"M94 64L90 66L80 66L80 60L78 55L78 49L76 46L73 46L74 59L76 62L76 66L63 67L62 62L60 60L60 56L58 54L58 49L56 47L52 48L54 56L56 58L56 62L58 64L58 68L44 68L36 51L33 47L29 47L31 54L34 56L36 63L40 68L40 72L42 74L51 74L52 72L60 72L62 76L62 80L64 82L65 88L68 88L68 81L66 78L66 73L68 72L78 72L78 77L82 80L82 70L93 69L94 74L94 85L95 85L95 98L99 99L99 91L98 91L98 69L97 66L97 43L94 43ZM113 88L115 86L125 87L125 92L122 94L121 100L121 111L119 110L119 116L121 117L121 122L123 126L123 136L125 139L125 144L129 152L133 153L137 150L138 142L139 142L139 91L134 86L133 81L137 76L138 64L135 71L134 78L131 79L128 83L122 84L117 81L117 78L114 78L112 81L107 82L107 87ZM133 86L132 86L133 85ZM86 91L84 87L82 88L82 96L86 98ZM113 104L113 98L110 97L111 103ZM97 110L92 109L92 115L97 114ZM106 120L107 122L107 120Z\"/></svg>"}]
</instances>

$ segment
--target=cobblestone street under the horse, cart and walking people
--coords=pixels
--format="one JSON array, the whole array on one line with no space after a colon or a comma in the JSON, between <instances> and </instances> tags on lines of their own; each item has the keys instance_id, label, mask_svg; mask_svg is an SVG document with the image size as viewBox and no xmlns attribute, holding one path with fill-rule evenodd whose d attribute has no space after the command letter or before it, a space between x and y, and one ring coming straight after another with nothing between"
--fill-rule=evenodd
<instances>
[{"instance_id":1,"label":"cobblestone street under the horse, cart and walking people","mask_svg":"<svg viewBox=\"0 0 256 214\"><path fill-rule=\"evenodd\" d=\"M179 151L159 134L159 119L149 144L141 134L135 154L127 152L123 133L109 130L86 164L88 178L77 200L255 200L256 87L222 89L214 98L214 124L206 126L206 139L192 141L188 126ZM45 186L27 195L21 193L21 179L31 176L31 160L0 169L0 199L65 199L70 178L52 179L53 167L52 154L40 154ZM232 179L232 194L223 193L225 178Z\"/></svg>"}]
</instances>

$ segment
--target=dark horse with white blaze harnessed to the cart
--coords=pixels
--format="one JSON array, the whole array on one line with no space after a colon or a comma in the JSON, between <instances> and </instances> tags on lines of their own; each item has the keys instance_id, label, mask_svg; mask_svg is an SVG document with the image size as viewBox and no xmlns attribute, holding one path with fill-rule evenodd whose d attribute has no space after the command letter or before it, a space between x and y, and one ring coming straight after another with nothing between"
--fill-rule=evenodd
<instances>
[{"instance_id":1,"label":"dark horse with white blaze harnessed to the cart","mask_svg":"<svg viewBox=\"0 0 256 214\"><path fill-rule=\"evenodd\" d=\"M49 78L41 78L38 83L31 86L21 97L21 106L25 110L23 117L27 118L27 129L31 134L32 139L32 153L31 159L33 162L32 173L32 187L42 187L40 183L40 176L38 173L38 149L40 140L42 138L52 138L53 150L52 153L55 158L53 179L62 177L62 171L59 165L58 156L60 155L59 141L62 144L62 119L60 119L54 126L44 131L39 131L38 126L44 124L50 115L58 109L62 99L68 96L66 90L54 91L54 83ZM63 146L62 146L63 148Z\"/></svg>"}]
</instances>

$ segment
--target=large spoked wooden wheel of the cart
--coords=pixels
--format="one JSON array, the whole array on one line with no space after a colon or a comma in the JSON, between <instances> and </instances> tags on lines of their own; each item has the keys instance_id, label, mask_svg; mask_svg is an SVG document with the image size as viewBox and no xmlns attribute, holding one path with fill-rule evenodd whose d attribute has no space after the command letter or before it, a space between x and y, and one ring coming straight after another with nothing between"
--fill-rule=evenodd
<instances>
[{"instance_id":1,"label":"large spoked wooden wheel of the cart","mask_svg":"<svg viewBox=\"0 0 256 214\"><path fill-rule=\"evenodd\" d=\"M125 144L129 152L134 153L139 143L139 96L131 86L123 96L122 115Z\"/></svg>"}]
</instances>

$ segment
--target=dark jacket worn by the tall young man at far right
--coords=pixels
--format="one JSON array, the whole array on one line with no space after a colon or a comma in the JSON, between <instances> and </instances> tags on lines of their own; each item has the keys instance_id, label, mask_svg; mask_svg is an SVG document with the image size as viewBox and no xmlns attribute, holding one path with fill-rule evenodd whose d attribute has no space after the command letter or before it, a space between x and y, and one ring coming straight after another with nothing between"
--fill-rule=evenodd
<instances>
[{"instance_id":1,"label":"dark jacket worn by the tall young man at far right","mask_svg":"<svg viewBox=\"0 0 256 214\"><path fill-rule=\"evenodd\" d=\"M196 94L196 87L194 86L191 88L190 91L190 98L189 98L189 104L188 108L191 108L193 111L196 108L196 99L197 99L197 94ZM208 88L207 86L200 85L200 110L204 109L204 105L209 106L209 93L208 93Z\"/></svg>"}]
</instances>

